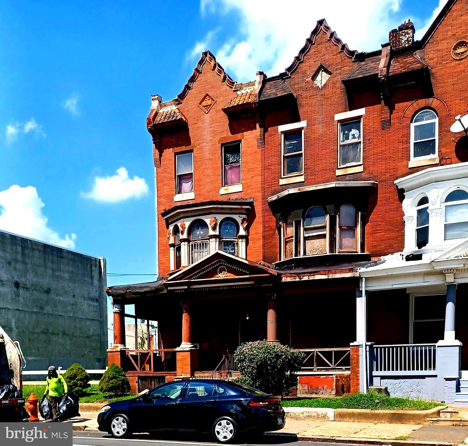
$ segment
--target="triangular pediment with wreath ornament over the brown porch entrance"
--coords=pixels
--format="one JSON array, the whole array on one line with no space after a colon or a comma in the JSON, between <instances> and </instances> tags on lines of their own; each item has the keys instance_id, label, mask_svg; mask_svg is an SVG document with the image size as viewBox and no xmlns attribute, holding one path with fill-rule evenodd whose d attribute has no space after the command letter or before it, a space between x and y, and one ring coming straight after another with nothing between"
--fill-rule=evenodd
<instances>
[{"instance_id":1,"label":"triangular pediment with wreath ornament over the brown porch entrance","mask_svg":"<svg viewBox=\"0 0 468 446\"><path fill-rule=\"evenodd\" d=\"M273 283L277 282L278 278L278 272L272 268L222 251L216 251L170 275L165 285L170 289L182 284L190 287L199 284L219 286L226 283L245 283L245 281L252 284Z\"/></svg>"}]
</instances>

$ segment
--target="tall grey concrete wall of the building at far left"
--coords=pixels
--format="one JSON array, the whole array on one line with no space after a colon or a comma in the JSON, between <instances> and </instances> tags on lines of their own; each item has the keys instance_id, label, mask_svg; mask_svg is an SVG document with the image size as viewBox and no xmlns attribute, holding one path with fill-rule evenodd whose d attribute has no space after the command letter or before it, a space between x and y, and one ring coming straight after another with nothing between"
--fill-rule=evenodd
<instances>
[{"instance_id":1,"label":"tall grey concrete wall of the building at far left","mask_svg":"<svg viewBox=\"0 0 468 446\"><path fill-rule=\"evenodd\" d=\"M0 326L27 370L106 365L106 261L0 231Z\"/></svg>"}]
</instances>

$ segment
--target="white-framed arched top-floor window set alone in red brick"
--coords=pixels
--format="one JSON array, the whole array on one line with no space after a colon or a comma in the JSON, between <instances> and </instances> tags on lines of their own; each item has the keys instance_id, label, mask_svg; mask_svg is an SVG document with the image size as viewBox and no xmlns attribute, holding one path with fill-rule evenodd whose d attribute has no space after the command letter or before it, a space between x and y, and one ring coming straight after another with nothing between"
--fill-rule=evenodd
<instances>
[{"instance_id":1,"label":"white-framed arched top-floor window set alone in red brick","mask_svg":"<svg viewBox=\"0 0 468 446\"><path fill-rule=\"evenodd\" d=\"M417 113L411 121L410 160L436 157L438 153L439 117L431 109Z\"/></svg>"}]
</instances>

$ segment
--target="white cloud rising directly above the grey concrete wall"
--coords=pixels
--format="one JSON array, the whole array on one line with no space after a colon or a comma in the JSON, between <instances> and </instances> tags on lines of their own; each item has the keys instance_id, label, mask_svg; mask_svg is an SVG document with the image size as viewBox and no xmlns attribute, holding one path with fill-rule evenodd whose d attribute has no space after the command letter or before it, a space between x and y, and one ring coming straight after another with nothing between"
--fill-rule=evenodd
<instances>
[{"instance_id":1,"label":"white cloud rising directly above the grey concrete wall","mask_svg":"<svg viewBox=\"0 0 468 446\"><path fill-rule=\"evenodd\" d=\"M66 234L62 239L59 233L47 226L43 207L44 203L33 186L15 184L0 191L0 229L73 249L76 235Z\"/></svg>"}]
</instances>

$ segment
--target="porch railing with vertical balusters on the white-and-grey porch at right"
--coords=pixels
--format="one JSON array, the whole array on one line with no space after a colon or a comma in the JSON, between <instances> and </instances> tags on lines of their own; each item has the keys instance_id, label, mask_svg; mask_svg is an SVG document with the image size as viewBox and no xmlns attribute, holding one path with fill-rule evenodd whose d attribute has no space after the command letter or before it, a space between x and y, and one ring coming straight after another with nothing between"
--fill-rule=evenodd
<instances>
[{"instance_id":1,"label":"porch railing with vertical balusters on the white-and-grey porch at right","mask_svg":"<svg viewBox=\"0 0 468 446\"><path fill-rule=\"evenodd\" d=\"M429 372L437 367L436 344L374 345L374 372Z\"/></svg>"}]
</instances>

